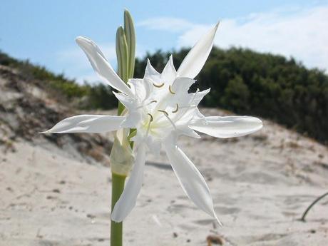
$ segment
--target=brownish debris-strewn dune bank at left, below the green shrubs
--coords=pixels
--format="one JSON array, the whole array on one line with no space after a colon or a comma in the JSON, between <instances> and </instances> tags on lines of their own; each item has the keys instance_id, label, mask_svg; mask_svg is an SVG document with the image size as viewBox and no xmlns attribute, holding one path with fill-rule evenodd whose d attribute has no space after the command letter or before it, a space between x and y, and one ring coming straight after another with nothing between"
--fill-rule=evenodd
<instances>
[{"instance_id":1,"label":"brownish debris-strewn dune bank at left, below the green shrubs","mask_svg":"<svg viewBox=\"0 0 328 246\"><path fill-rule=\"evenodd\" d=\"M67 146L80 159L108 163L111 142L99 135L37 134L75 113L65 97L44 87L44 81L32 81L21 71L0 66L0 143L5 152L15 153L14 143L27 141L49 149Z\"/></svg>"}]
</instances>

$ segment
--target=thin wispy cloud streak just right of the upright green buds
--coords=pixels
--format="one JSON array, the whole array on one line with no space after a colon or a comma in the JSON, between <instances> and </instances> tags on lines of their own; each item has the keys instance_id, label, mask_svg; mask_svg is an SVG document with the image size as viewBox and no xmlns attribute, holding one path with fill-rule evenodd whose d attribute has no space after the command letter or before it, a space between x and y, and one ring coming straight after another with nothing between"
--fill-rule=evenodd
<instances>
[{"instance_id":1,"label":"thin wispy cloud streak just right of the upright green buds","mask_svg":"<svg viewBox=\"0 0 328 246\"><path fill-rule=\"evenodd\" d=\"M186 29L193 28L193 24L189 21L170 17L146 19L145 21L140 21L137 26L145 26L152 30L171 32L185 31Z\"/></svg>"}]
</instances>

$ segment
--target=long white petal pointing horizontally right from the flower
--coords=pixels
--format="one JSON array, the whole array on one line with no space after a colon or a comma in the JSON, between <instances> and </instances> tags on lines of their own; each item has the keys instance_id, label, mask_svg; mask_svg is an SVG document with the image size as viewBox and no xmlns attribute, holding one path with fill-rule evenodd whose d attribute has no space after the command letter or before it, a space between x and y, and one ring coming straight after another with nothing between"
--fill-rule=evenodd
<instances>
[{"instance_id":1,"label":"long white petal pointing horizontally right from the flower","mask_svg":"<svg viewBox=\"0 0 328 246\"><path fill-rule=\"evenodd\" d=\"M251 116L210 116L206 122L196 121L190 128L215 138L240 137L262 128L262 121Z\"/></svg>"}]
</instances>

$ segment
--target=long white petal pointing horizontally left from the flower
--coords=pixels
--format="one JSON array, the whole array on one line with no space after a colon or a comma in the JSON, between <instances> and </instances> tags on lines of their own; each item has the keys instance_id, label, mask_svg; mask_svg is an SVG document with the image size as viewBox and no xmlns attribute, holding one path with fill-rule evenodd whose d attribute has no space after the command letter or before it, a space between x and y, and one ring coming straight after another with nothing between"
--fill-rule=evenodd
<instances>
[{"instance_id":1,"label":"long white petal pointing horizontally left from the flower","mask_svg":"<svg viewBox=\"0 0 328 246\"><path fill-rule=\"evenodd\" d=\"M106 133L118 130L124 119L124 116L73 116L58 122L43 133Z\"/></svg>"}]
</instances>

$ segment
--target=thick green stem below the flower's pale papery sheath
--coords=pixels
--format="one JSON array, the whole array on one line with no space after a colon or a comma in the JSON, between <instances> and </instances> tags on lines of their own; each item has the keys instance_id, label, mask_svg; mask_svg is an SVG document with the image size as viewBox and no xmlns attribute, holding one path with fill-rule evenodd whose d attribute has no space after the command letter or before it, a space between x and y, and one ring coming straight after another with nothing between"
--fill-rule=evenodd
<instances>
[{"instance_id":1,"label":"thick green stem below the flower's pale papery sheath","mask_svg":"<svg viewBox=\"0 0 328 246\"><path fill-rule=\"evenodd\" d=\"M124 190L125 176L112 173L112 212L114 205L121 197ZM122 246L123 241L123 222L111 220L111 246Z\"/></svg>"}]
</instances>

